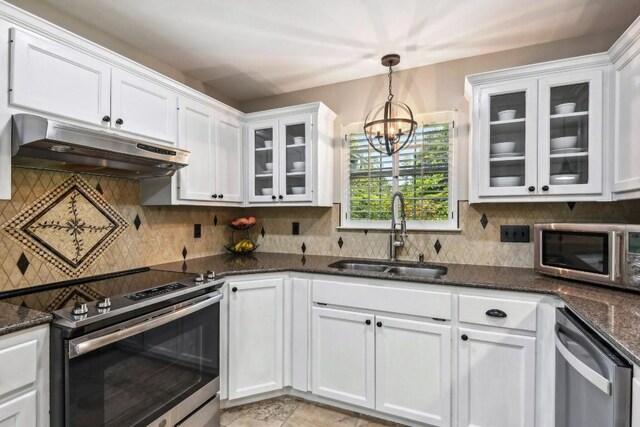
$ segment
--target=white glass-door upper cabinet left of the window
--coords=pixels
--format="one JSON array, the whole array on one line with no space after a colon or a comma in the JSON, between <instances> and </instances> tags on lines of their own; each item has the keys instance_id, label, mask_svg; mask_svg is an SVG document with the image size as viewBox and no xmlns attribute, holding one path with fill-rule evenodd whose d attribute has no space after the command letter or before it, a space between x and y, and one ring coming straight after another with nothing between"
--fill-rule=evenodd
<instances>
[{"instance_id":1,"label":"white glass-door upper cabinet left of the window","mask_svg":"<svg viewBox=\"0 0 640 427\"><path fill-rule=\"evenodd\" d=\"M333 123L324 104L247 115L249 204L330 206Z\"/></svg>"}]
</instances>

